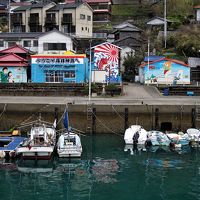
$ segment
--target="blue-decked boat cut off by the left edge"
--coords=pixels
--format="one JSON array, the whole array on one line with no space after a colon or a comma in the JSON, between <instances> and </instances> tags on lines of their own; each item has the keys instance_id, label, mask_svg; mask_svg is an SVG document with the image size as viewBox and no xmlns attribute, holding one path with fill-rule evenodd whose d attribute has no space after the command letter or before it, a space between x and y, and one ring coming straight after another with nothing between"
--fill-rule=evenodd
<instances>
[{"instance_id":1,"label":"blue-decked boat cut off by the left edge","mask_svg":"<svg viewBox=\"0 0 200 200\"><path fill-rule=\"evenodd\" d=\"M16 150L25 139L20 136L19 130L2 131L0 133L0 158L16 157Z\"/></svg>"}]
</instances>

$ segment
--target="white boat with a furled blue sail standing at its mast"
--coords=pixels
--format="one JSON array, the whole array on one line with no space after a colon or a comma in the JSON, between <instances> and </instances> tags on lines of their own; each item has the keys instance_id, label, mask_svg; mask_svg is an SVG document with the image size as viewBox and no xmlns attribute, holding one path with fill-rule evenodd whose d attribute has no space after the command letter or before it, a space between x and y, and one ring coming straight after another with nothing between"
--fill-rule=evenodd
<instances>
[{"instance_id":1,"label":"white boat with a furled blue sail standing at its mast","mask_svg":"<svg viewBox=\"0 0 200 200\"><path fill-rule=\"evenodd\" d=\"M69 127L68 112L65 112L64 126L66 132L60 135L57 142L59 157L81 157L82 145L80 136Z\"/></svg>"}]
</instances>

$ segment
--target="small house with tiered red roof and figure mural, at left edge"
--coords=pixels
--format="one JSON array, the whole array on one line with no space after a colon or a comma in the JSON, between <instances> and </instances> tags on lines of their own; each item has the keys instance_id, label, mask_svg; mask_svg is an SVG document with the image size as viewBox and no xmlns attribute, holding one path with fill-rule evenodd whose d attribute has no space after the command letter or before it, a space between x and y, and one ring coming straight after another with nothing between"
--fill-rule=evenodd
<instances>
[{"instance_id":1,"label":"small house with tiered red roof and figure mural, at left edge","mask_svg":"<svg viewBox=\"0 0 200 200\"><path fill-rule=\"evenodd\" d=\"M0 82L27 82L27 68L27 60L14 53L0 56Z\"/></svg>"}]
</instances>

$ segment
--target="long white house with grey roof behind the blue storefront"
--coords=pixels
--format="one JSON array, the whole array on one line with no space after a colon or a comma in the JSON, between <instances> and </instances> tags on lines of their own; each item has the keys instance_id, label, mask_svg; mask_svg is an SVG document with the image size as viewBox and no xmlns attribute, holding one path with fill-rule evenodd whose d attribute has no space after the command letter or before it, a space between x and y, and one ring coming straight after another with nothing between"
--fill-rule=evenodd
<instances>
[{"instance_id":1,"label":"long white house with grey roof behind the blue storefront","mask_svg":"<svg viewBox=\"0 0 200 200\"><path fill-rule=\"evenodd\" d=\"M46 33L0 33L0 51L16 44L40 54L58 54L75 48L74 38L56 29Z\"/></svg>"}]
</instances>

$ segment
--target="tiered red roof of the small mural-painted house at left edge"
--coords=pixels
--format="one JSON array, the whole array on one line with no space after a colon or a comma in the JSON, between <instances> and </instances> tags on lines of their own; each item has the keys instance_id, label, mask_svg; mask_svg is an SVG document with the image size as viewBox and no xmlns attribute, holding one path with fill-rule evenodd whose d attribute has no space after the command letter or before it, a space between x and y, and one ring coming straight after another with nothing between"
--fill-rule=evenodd
<instances>
[{"instance_id":1,"label":"tiered red roof of the small mural-painted house at left edge","mask_svg":"<svg viewBox=\"0 0 200 200\"><path fill-rule=\"evenodd\" d=\"M0 56L0 66L28 66L28 62L14 53L9 53Z\"/></svg>"}]
</instances>

